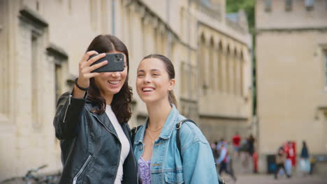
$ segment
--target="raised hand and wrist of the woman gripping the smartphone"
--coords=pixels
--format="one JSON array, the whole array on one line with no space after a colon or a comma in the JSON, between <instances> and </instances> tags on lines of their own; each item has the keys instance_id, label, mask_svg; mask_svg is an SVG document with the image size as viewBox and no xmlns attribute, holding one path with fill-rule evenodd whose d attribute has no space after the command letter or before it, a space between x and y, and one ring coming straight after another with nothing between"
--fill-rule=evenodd
<instances>
[{"instance_id":1,"label":"raised hand and wrist of the woman gripping the smartphone","mask_svg":"<svg viewBox=\"0 0 327 184\"><path fill-rule=\"evenodd\" d=\"M91 66L92 63L95 61L98 61L99 59L103 58L106 56L106 53L99 54L98 56L94 56L92 59L89 59L89 56L92 56L94 54L98 54L98 52L92 50L84 54L82 59L80 60L80 63L78 63L78 86L82 88L88 88L89 87L89 79L92 77L96 77L100 75L99 72L92 72L93 70L96 70L100 68L101 66L105 66L108 61L103 61L101 63L97 63L94 66ZM87 61L89 59L89 61ZM85 91L82 91L78 89L78 87L75 85L74 86L74 92L73 92L73 97L74 98L83 98L85 95Z\"/></svg>"}]
</instances>

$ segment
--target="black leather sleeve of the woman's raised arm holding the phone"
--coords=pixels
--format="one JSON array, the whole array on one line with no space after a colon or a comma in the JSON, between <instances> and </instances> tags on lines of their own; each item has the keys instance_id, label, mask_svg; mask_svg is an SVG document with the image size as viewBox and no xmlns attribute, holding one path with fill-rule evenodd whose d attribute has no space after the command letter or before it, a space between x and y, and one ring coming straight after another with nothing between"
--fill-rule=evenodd
<instances>
[{"instance_id":1,"label":"black leather sleeve of the woman's raised arm holding the phone","mask_svg":"<svg viewBox=\"0 0 327 184\"><path fill-rule=\"evenodd\" d=\"M57 139L68 140L78 135L85 102L85 98L73 98L72 93L69 92L61 95L53 121Z\"/></svg>"}]
</instances>

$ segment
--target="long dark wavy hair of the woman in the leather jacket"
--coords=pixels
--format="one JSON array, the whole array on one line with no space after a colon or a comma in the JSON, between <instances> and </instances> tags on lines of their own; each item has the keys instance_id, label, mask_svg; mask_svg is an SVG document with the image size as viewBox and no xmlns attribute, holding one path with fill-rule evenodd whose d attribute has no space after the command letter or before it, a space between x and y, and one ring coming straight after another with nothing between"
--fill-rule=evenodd
<instances>
[{"instance_id":1,"label":"long dark wavy hair of the woman in the leather jacket","mask_svg":"<svg viewBox=\"0 0 327 184\"><path fill-rule=\"evenodd\" d=\"M129 86L129 51L124 43L117 37L112 35L99 35L96 36L87 47L87 52L95 50L96 52L112 52L119 51L126 55L127 63L127 76L122 86L122 89L116 93L111 102L112 112L115 113L119 123L126 123L131 118L131 100L132 89ZM103 114L106 112L106 99L101 96L98 86L94 82L94 77L89 79L89 95L88 100L91 100L96 104L96 109L92 109L92 112L96 114Z\"/></svg>"}]
</instances>

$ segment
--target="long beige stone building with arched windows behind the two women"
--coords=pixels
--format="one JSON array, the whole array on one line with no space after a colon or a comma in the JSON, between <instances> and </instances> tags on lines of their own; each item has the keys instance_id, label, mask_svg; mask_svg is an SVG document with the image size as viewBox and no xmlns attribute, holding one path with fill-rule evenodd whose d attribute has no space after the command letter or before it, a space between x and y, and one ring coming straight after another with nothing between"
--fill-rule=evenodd
<instances>
[{"instance_id":1,"label":"long beige stone building with arched windows behind the two women","mask_svg":"<svg viewBox=\"0 0 327 184\"><path fill-rule=\"evenodd\" d=\"M174 63L180 112L210 141L247 134L252 120L251 36L244 13L224 0L0 0L0 180L48 164L61 169L52 125L91 40L110 33L130 53L131 86L143 56ZM143 123L134 91L131 127Z\"/></svg>"}]
</instances>

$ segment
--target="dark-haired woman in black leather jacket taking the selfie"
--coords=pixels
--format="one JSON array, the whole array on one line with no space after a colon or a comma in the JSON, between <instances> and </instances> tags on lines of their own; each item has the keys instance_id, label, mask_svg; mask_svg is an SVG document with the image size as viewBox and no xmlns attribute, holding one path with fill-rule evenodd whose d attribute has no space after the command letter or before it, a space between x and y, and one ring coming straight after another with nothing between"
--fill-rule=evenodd
<instances>
[{"instance_id":1,"label":"dark-haired woman in black leather jacket taking the selfie","mask_svg":"<svg viewBox=\"0 0 327 184\"><path fill-rule=\"evenodd\" d=\"M108 63L92 63L106 54L124 55L122 72L92 72ZM89 56L99 54L89 59ZM60 184L137 183L137 165L127 121L132 91L128 84L129 52L115 36L92 40L79 63L73 91L57 102L54 117L63 171Z\"/></svg>"}]
</instances>

